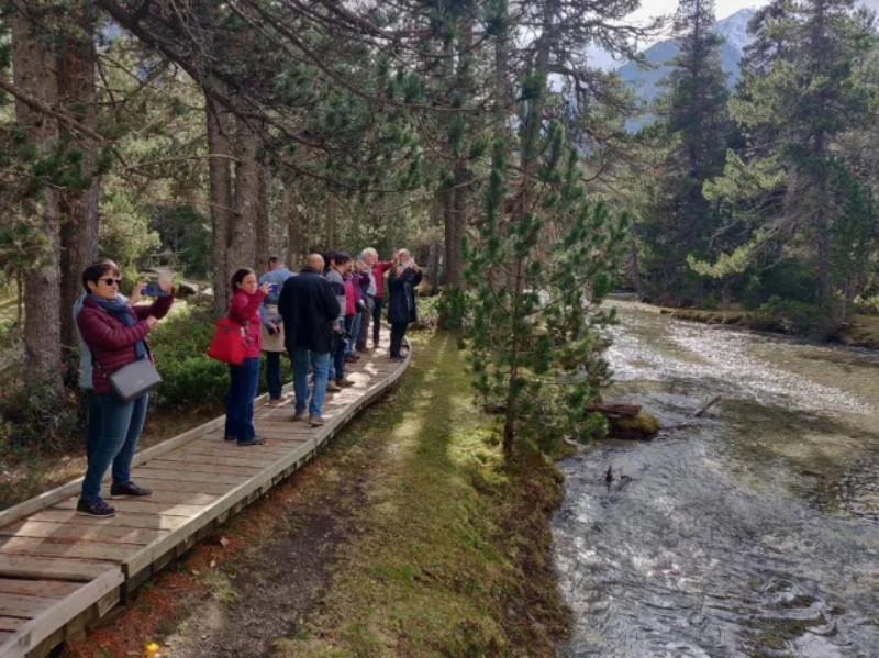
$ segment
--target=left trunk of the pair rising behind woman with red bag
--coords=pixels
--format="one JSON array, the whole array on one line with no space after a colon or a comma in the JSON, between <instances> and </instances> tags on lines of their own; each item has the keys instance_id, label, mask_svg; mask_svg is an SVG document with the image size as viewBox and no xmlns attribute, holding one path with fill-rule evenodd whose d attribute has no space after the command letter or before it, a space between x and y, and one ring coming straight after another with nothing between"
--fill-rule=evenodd
<instances>
[{"instance_id":1,"label":"left trunk of the pair rising behind woman with red bag","mask_svg":"<svg viewBox=\"0 0 879 658\"><path fill-rule=\"evenodd\" d=\"M213 260L213 312L222 315L229 302L226 249L232 224L232 166L226 111L205 94L211 199L211 256Z\"/></svg>"}]
</instances>

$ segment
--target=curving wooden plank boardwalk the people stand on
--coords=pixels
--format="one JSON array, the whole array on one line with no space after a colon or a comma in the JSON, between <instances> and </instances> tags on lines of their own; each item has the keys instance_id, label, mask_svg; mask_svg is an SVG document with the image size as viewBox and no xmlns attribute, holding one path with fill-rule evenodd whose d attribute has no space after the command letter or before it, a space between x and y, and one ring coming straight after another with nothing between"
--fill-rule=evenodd
<instances>
[{"instance_id":1,"label":"curving wooden plank boardwalk the people stand on","mask_svg":"<svg viewBox=\"0 0 879 658\"><path fill-rule=\"evenodd\" d=\"M42 657L80 639L129 591L310 460L409 358L394 363L379 348L348 364L355 386L327 394L322 427L293 422L292 401L268 406L263 395L254 421L264 446L224 442L221 416L138 453L132 479L153 495L113 500L111 518L76 515L81 478L0 512L0 658Z\"/></svg>"}]
</instances>

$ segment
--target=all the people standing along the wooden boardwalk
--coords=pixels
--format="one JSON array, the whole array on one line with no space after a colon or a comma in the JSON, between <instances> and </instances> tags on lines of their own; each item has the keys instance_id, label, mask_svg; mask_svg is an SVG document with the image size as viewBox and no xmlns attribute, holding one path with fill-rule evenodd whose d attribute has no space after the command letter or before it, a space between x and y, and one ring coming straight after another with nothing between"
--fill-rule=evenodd
<instances>
[{"instance_id":1,"label":"all the people standing along the wooden boardwalk","mask_svg":"<svg viewBox=\"0 0 879 658\"><path fill-rule=\"evenodd\" d=\"M387 294L385 275L387 274ZM379 344L381 311L388 302L391 325L390 357L402 360L407 326L416 320L414 288L422 274L407 249L392 260L379 261L372 248L356 259L344 252L311 254L294 274L281 259L268 259L257 278L252 269L236 270L230 280L232 298L227 314L242 324L247 348L241 365L230 366L225 438L240 446L265 443L253 425L254 400L259 384L259 356L266 353L266 379L271 404L282 403L280 355L287 352L293 367L296 414L311 426L324 423L326 391L351 386L345 364ZM84 294L73 319L79 335L80 387L86 391L89 430L87 467L77 513L109 517L115 510L100 494L101 481L112 465L111 498L148 498L146 488L131 480L132 459L143 431L148 393L122 400L109 386L108 376L137 360L153 360L146 336L174 303L170 281L148 289L135 285L129 298L120 293L120 269L102 258L82 271ZM147 290L155 299L141 303ZM309 371L312 386L309 388Z\"/></svg>"}]
</instances>

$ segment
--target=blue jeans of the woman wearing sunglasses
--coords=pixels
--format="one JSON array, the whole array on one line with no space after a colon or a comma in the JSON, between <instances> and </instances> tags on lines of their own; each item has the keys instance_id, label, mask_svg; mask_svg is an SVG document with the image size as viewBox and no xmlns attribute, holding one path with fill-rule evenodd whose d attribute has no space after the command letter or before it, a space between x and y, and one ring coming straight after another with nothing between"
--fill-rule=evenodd
<instances>
[{"instance_id":1,"label":"blue jeans of the woman wearing sunglasses","mask_svg":"<svg viewBox=\"0 0 879 658\"><path fill-rule=\"evenodd\" d=\"M131 481L131 461L144 428L149 394L130 402L123 402L115 393L89 391L88 397L88 466L80 500L91 503L101 498L101 480L111 464L113 482L124 484Z\"/></svg>"}]
</instances>

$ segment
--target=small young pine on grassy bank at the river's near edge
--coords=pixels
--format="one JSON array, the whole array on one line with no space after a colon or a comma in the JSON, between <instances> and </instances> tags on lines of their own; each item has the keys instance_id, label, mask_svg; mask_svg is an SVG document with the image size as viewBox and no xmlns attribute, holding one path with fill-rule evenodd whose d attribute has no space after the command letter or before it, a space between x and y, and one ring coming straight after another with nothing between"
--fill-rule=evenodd
<instances>
[{"instance_id":1,"label":"small young pine on grassy bank at the river's near edge","mask_svg":"<svg viewBox=\"0 0 879 658\"><path fill-rule=\"evenodd\" d=\"M521 157L531 179L508 189L507 149L499 142L486 192L486 219L466 252L472 295L468 345L475 386L488 408L503 410L503 449L516 436L552 450L568 436L600 434L583 405L608 384L599 309L608 292L621 224L590 204L577 154L559 122L539 130L545 79L523 85ZM513 209L509 212L509 209ZM554 236L557 236L554 238Z\"/></svg>"}]
</instances>

